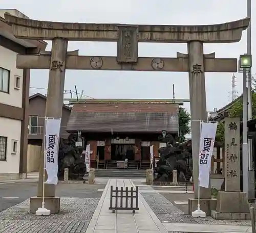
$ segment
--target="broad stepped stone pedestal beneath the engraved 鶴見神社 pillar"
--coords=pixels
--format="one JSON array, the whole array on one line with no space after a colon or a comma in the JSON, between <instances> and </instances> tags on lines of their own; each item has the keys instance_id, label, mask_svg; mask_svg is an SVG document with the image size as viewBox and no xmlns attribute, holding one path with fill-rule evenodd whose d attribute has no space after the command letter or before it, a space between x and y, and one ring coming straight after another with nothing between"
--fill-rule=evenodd
<instances>
[{"instance_id":1,"label":"broad stepped stone pedestal beneath the engraved \u9db4\u898b\u795e\u793e pillar","mask_svg":"<svg viewBox=\"0 0 256 233\"><path fill-rule=\"evenodd\" d=\"M216 211L211 216L215 219L250 220L247 193L219 192Z\"/></svg>"}]
</instances>

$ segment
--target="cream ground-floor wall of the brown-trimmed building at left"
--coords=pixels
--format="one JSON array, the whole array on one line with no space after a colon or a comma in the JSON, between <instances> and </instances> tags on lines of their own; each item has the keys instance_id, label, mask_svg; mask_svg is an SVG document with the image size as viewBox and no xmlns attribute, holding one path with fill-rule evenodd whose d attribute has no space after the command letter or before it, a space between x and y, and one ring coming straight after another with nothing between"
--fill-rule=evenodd
<instances>
[{"instance_id":1,"label":"cream ground-floor wall of the brown-trimmed building at left","mask_svg":"<svg viewBox=\"0 0 256 233\"><path fill-rule=\"evenodd\" d=\"M7 137L6 161L0 161L0 180L18 178L21 124L19 120L0 117L0 136ZM12 153L12 140L18 143L16 153Z\"/></svg>"}]
</instances>

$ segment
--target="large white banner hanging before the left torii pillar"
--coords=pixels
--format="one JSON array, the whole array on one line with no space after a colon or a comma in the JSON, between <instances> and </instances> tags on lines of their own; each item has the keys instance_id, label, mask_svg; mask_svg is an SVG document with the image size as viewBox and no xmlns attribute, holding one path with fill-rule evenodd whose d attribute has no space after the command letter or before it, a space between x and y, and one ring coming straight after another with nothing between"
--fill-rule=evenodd
<instances>
[{"instance_id":1,"label":"large white banner hanging before the left torii pillar","mask_svg":"<svg viewBox=\"0 0 256 233\"><path fill-rule=\"evenodd\" d=\"M46 184L58 184L58 142L61 118L45 120L45 165L47 171Z\"/></svg>"}]
</instances>

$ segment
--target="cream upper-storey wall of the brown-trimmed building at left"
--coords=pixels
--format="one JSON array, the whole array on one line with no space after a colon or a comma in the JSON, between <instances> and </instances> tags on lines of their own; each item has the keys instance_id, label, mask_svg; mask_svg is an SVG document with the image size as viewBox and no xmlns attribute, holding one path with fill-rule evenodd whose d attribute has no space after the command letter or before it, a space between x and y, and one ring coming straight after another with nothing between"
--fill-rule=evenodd
<instances>
[{"instance_id":1,"label":"cream upper-storey wall of the brown-trimmed building at left","mask_svg":"<svg viewBox=\"0 0 256 233\"><path fill-rule=\"evenodd\" d=\"M9 93L0 92L0 101L6 105L22 108L23 69L16 68L16 55L12 50L0 46L0 67L10 70ZM15 89L15 75L20 77L20 89Z\"/></svg>"}]
</instances>

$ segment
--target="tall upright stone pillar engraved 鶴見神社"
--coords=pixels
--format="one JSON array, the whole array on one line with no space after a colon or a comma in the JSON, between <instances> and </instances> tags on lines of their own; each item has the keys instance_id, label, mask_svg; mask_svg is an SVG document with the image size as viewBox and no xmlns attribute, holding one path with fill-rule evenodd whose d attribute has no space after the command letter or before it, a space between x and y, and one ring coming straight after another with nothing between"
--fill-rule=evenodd
<instances>
[{"instance_id":1,"label":"tall upright stone pillar engraved \u9db4\u898b\u795e\u793e","mask_svg":"<svg viewBox=\"0 0 256 233\"><path fill-rule=\"evenodd\" d=\"M225 118L225 191L240 192L240 120Z\"/></svg>"}]
</instances>

